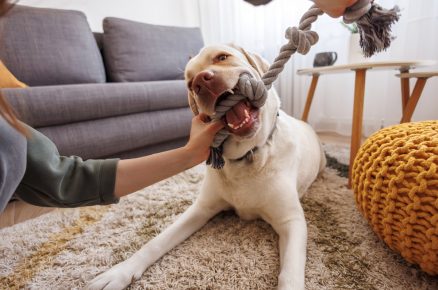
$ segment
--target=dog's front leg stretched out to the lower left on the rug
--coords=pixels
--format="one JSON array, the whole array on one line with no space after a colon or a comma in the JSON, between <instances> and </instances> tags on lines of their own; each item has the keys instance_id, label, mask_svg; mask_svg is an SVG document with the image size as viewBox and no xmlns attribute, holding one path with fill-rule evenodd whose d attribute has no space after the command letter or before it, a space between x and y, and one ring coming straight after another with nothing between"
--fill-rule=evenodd
<instances>
[{"instance_id":1,"label":"dog's front leg stretched out to the lower left on the rug","mask_svg":"<svg viewBox=\"0 0 438 290\"><path fill-rule=\"evenodd\" d=\"M205 201L205 200L204 200ZM153 238L129 259L94 278L86 289L124 289L173 247L205 225L210 218L227 207L222 200L195 202L174 224Z\"/></svg>"}]
</instances>

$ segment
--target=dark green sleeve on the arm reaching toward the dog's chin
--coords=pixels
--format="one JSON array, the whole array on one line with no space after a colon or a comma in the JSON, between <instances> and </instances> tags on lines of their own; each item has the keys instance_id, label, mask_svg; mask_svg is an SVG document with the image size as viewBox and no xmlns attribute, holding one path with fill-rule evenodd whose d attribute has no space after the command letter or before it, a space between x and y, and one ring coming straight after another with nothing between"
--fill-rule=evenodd
<instances>
[{"instance_id":1,"label":"dark green sleeve on the arm reaching toward the dog's chin","mask_svg":"<svg viewBox=\"0 0 438 290\"><path fill-rule=\"evenodd\" d=\"M118 202L114 196L119 159L86 160L60 156L55 144L27 127L27 165L16 194L22 200L53 207Z\"/></svg>"}]
</instances>

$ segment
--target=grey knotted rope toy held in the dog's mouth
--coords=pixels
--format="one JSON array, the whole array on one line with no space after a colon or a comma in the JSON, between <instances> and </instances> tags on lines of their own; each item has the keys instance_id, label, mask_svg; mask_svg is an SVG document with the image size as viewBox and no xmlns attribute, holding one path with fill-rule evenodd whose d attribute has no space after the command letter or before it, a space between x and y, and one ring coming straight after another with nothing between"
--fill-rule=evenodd
<instances>
[{"instance_id":1,"label":"grey knotted rope toy held in the dog's mouth","mask_svg":"<svg viewBox=\"0 0 438 290\"><path fill-rule=\"evenodd\" d=\"M216 106L213 119L221 119L232 107L244 99L248 99L256 108L262 107L268 97L268 90L271 89L272 83L283 71L291 56L295 52L307 54L310 48L318 42L319 36L315 31L311 31L311 28L318 16L323 14L324 12L320 8L313 5L304 13L298 28L289 27L286 30L286 38L289 42L281 47L280 54L262 76L262 80L258 81L248 74L240 76L236 93L229 95ZM345 23L355 22L357 24L360 33L360 46L364 55L370 57L389 47L391 44L391 25L398 21L399 17L397 6L386 10L374 3L374 0L359 0L346 9L343 18ZM207 165L211 165L215 169L223 168L225 161L222 157L222 144L229 135L230 133L226 129L222 129L216 134L211 145Z\"/></svg>"}]
</instances>

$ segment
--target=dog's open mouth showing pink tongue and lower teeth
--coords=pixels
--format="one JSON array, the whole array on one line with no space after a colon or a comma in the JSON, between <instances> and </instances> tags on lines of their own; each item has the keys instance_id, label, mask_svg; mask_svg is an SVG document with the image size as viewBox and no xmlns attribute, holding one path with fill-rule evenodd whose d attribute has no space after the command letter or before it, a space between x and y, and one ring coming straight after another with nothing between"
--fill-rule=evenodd
<instances>
[{"instance_id":1,"label":"dog's open mouth showing pink tongue and lower teeth","mask_svg":"<svg viewBox=\"0 0 438 290\"><path fill-rule=\"evenodd\" d=\"M236 93L236 90L227 90L226 92L222 93L222 95L220 95L216 101L216 106L234 93ZM226 125L225 128L230 133L238 136L246 136L251 134L253 131L255 124L258 121L258 117L259 109L251 105L248 99L244 99L234 105L222 117L222 121Z\"/></svg>"}]
</instances>

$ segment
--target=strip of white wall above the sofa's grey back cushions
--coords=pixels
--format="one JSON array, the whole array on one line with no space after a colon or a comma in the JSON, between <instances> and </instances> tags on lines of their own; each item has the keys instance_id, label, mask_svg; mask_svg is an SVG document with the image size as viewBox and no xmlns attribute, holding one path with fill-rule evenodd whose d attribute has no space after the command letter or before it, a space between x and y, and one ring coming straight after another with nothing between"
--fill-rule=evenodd
<instances>
[{"instance_id":1,"label":"strip of white wall above the sofa's grey back cushions","mask_svg":"<svg viewBox=\"0 0 438 290\"><path fill-rule=\"evenodd\" d=\"M93 31L102 31L102 20L107 16L160 25L199 26L197 0L20 0L19 4L83 11Z\"/></svg>"}]
</instances>

